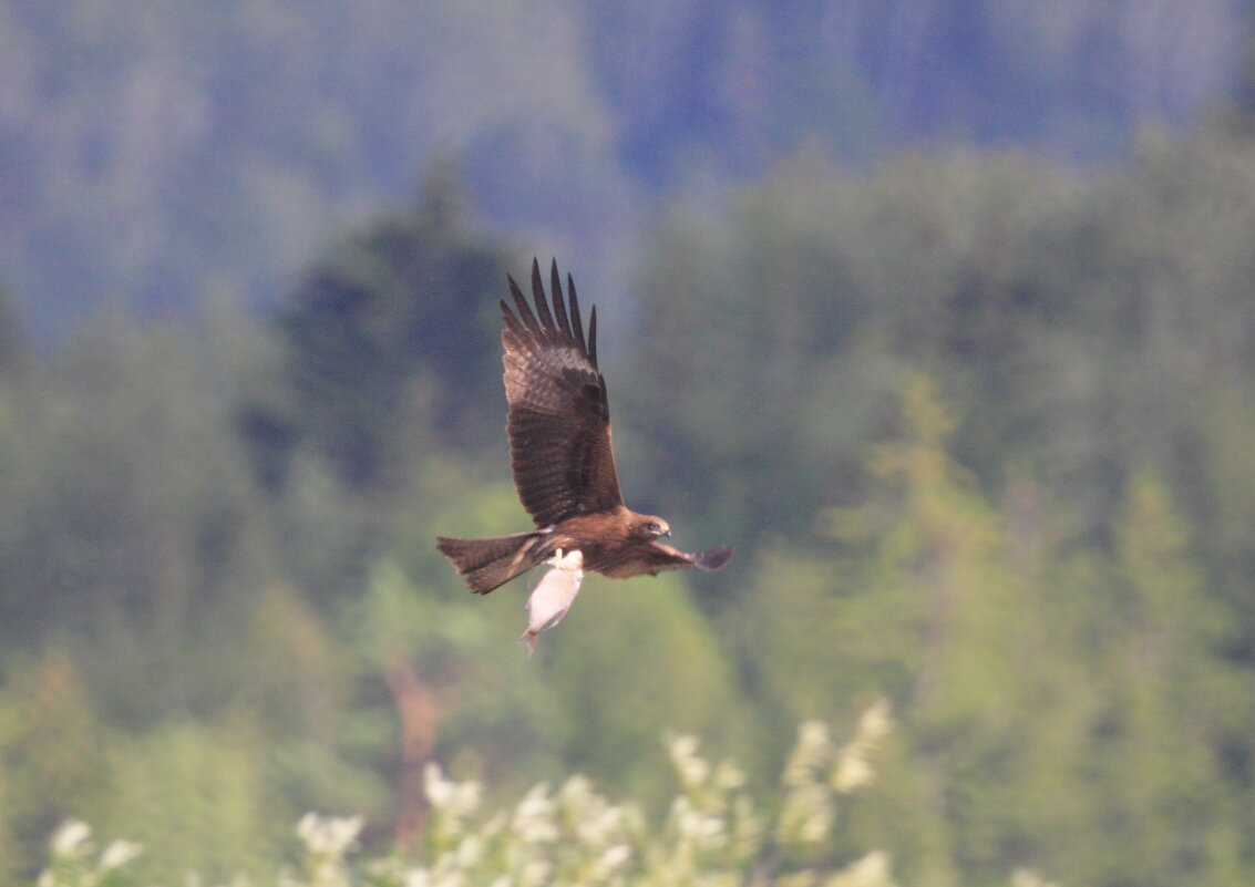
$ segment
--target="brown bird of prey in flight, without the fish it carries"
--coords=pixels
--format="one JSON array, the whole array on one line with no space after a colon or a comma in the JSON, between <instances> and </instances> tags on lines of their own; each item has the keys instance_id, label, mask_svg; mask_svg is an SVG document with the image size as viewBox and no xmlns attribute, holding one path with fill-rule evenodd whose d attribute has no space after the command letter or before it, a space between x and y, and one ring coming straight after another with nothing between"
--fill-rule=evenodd
<instances>
[{"instance_id":1,"label":"brown bird of prey in flight, without the fish it carries","mask_svg":"<svg viewBox=\"0 0 1255 887\"><path fill-rule=\"evenodd\" d=\"M732 548L688 553L659 542L666 521L624 506L610 445L606 380L597 370L597 310L584 335L575 281L562 295L557 262L551 270L553 310L545 297L540 265L532 260L527 304L507 276L515 311L502 300L506 321L506 434L515 487L536 529L488 539L437 538L435 547L477 595L487 595L560 550L580 552L584 568L612 578L663 570L719 570Z\"/></svg>"}]
</instances>

